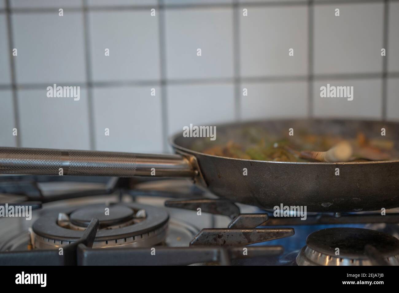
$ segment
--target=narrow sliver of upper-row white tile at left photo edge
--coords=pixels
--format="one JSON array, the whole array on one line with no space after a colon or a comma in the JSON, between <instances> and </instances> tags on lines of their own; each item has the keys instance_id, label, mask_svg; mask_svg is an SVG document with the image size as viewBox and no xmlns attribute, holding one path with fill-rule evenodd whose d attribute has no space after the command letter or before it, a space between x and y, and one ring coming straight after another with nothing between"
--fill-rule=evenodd
<instances>
[{"instance_id":1,"label":"narrow sliver of upper-row white tile at left photo edge","mask_svg":"<svg viewBox=\"0 0 399 293\"><path fill-rule=\"evenodd\" d=\"M0 14L0 84L10 84L10 48L8 47L8 34L6 15Z\"/></svg>"}]
</instances>

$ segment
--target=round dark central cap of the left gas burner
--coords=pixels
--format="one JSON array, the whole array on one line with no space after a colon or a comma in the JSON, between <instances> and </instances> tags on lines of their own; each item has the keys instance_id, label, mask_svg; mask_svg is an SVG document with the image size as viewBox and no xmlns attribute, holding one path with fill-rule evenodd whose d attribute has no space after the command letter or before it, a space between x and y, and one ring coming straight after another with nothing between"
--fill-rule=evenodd
<instances>
[{"instance_id":1,"label":"round dark central cap of the left gas burner","mask_svg":"<svg viewBox=\"0 0 399 293\"><path fill-rule=\"evenodd\" d=\"M109 208L109 213L105 214L105 208ZM86 206L73 211L69 219L72 224L87 227L93 218L98 218L100 227L103 228L131 220L133 214L131 208L123 205Z\"/></svg>"}]
</instances>

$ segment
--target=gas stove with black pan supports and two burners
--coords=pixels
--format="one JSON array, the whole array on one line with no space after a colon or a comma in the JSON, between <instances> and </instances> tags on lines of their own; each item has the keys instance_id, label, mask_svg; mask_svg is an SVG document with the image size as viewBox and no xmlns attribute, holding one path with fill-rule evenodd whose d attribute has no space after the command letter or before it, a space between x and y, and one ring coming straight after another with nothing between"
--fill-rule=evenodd
<instances>
[{"instance_id":1,"label":"gas stove with black pan supports and two burners","mask_svg":"<svg viewBox=\"0 0 399 293\"><path fill-rule=\"evenodd\" d=\"M303 220L117 177L1 176L0 203L32 208L0 218L0 265L399 265L396 210Z\"/></svg>"}]
</instances>

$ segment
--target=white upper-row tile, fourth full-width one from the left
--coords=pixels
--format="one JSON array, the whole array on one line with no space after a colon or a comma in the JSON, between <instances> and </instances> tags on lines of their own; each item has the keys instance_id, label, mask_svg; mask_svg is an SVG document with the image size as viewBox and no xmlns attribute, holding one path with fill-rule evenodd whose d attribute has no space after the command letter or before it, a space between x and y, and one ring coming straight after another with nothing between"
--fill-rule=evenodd
<instances>
[{"instance_id":1,"label":"white upper-row tile, fourth full-width one from the left","mask_svg":"<svg viewBox=\"0 0 399 293\"><path fill-rule=\"evenodd\" d=\"M240 6L241 74L244 77L308 72L306 6ZM294 56L289 56L294 49Z\"/></svg>"}]
</instances>

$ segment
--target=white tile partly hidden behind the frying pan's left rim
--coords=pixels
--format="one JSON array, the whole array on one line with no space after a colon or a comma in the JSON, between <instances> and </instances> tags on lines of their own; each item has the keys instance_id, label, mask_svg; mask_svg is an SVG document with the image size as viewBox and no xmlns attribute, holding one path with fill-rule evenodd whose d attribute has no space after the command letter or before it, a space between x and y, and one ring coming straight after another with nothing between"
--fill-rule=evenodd
<instances>
[{"instance_id":1,"label":"white tile partly hidden behind the frying pan's left rim","mask_svg":"<svg viewBox=\"0 0 399 293\"><path fill-rule=\"evenodd\" d=\"M168 86L169 134L184 126L213 126L234 120L233 85Z\"/></svg>"}]
</instances>

